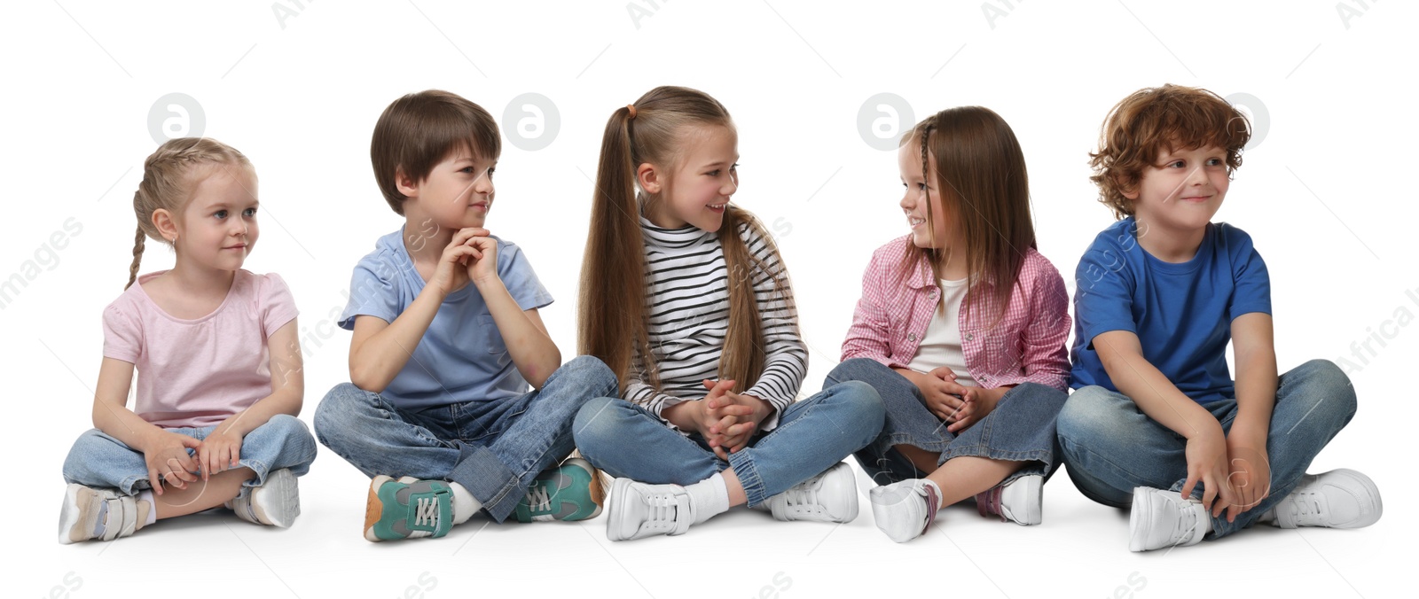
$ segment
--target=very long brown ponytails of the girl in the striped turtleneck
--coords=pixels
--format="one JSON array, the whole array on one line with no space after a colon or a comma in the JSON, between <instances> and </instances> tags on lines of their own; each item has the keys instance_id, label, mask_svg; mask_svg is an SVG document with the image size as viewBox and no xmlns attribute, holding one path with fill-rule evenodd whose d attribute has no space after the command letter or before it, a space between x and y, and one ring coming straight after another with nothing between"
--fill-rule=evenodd
<instances>
[{"instance_id":1,"label":"very long brown ponytails of the girl in the striped turtleneck","mask_svg":"<svg viewBox=\"0 0 1419 599\"><path fill-rule=\"evenodd\" d=\"M670 166L678 160L690 126L732 129L734 121L729 111L705 92L658 87L636 104L616 109L602 136L582 261L578 352L610 366L622 390L637 353L646 383L660 385L650 348L646 246L640 227L641 204L660 199L637 193L636 169L641 163ZM762 237L771 255L779 258L778 264L769 267L756 258L741 237L744 231ZM795 326L797 318L788 291L788 270L763 224L731 204L717 236L729 281L729 328L719 355L719 378L735 380L734 390L742 392L763 373L765 365L755 280L772 277L775 295L786 302Z\"/></svg>"}]
</instances>

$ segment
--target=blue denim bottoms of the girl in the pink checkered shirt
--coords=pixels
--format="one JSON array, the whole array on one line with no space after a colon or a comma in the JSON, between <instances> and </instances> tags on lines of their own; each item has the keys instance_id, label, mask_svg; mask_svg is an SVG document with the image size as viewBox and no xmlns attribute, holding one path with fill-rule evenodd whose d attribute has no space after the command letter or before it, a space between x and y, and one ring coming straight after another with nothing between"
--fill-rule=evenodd
<instances>
[{"instance_id":1,"label":"blue denim bottoms of the girl in the pink checkered shirt","mask_svg":"<svg viewBox=\"0 0 1419 599\"><path fill-rule=\"evenodd\" d=\"M1054 417L1069 397L1059 389L1039 383L1016 385L986 417L959 433L951 433L946 430L948 424L927 409L921 389L881 362L868 358L844 361L827 373L824 385L846 380L871 385L887 406L881 433L856 454L857 463L877 484L927 476L893 449L902 444L941 454L937 466L962 456L1030 461L1002 483L1027 474L1049 477L1059 467Z\"/></svg>"}]
</instances>

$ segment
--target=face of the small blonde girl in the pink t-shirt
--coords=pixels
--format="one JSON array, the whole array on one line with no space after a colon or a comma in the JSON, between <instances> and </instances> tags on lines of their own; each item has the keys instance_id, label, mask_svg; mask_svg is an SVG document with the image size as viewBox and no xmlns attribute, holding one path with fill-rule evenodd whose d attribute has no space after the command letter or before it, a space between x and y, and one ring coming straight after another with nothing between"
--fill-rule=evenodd
<instances>
[{"instance_id":1,"label":"face of the small blonde girl in the pink t-shirt","mask_svg":"<svg viewBox=\"0 0 1419 599\"><path fill-rule=\"evenodd\" d=\"M236 271L257 244L257 179L245 167L216 165L193 189L177 219L177 254Z\"/></svg>"}]
</instances>

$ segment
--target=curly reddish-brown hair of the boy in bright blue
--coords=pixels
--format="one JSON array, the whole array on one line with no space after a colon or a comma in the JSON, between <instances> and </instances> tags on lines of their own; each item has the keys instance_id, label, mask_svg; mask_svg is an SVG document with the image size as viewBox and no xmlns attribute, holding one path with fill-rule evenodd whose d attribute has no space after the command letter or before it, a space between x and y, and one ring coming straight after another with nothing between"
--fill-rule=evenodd
<instances>
[{"instance_id":1,"label":"curly reddish-brown hair of the boy in bright blue","mask_svg":"<svg viewBox=\"0 0 1419 599\"><path fill-rule=\"evenodd\" d=\"M1252 123L1222 97L1202 88L1164 84L1144 88L1114 105L1098 135L1098 152L1088 155L1098 202L1122 220L1134 214L1125 193L1138 189L1144 169L1164 150L1223 148L1227 173L1242 166L1242 149Z\"/></svg>"}]
</instances>

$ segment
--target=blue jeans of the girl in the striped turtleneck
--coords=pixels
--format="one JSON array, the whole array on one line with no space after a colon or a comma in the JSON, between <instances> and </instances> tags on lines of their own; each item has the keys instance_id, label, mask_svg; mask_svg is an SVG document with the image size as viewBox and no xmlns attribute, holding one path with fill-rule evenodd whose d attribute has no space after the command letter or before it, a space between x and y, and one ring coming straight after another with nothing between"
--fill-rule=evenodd
<instances>
[{"instance_id":1,"label":"blue jeans of the girl in the striped turtleneck","mask_svg":"<svg viewBox=\"0 0 1419 599\"><path fill-rule=\"evenodd\" d=\"M729 461L715 457L698 433L680 434L619 397L586 402L573 430L582 456L619 478L688 485L732 467L753 507L843 461L881 426L877 393L847 383L789 405L773 430L756 434Z\"/></svg>"}]
</instances>

